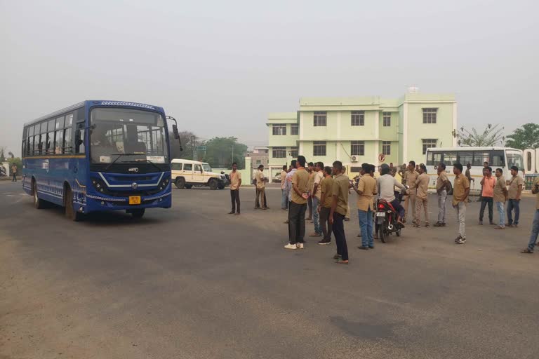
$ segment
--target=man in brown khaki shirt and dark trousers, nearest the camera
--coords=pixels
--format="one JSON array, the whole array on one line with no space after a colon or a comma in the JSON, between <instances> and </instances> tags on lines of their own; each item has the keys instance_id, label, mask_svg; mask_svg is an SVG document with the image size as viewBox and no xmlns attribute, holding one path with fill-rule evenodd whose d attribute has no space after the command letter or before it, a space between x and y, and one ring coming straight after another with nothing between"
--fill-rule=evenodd
<instances>
[{"instance_id":1,"label":"man in brown khaki shirt and dark trousers, nearest the camera","mask_svg":"<svg viewBox=\"0 0 539 359\"><path fill-rule=\"evenodd\" d=\"M348 208L350 179L342 172L342 162L333 162L333 173L337 175L333 179L333 203L331 204L329 222L333 226L333 234L335 235L335 243L337 244L337 255L333 258L337 259L336 263L338 264L348 264L348 247L346 245L344 220Z\"/></svg>"}]
</instances>

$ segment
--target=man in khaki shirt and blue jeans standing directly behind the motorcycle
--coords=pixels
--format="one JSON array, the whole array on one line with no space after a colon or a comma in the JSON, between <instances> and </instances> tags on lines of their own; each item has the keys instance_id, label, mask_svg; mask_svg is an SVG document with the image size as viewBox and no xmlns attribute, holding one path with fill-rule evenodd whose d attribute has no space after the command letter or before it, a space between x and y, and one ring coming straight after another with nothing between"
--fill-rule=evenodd
<instances>
[{"instance_id":1,"label":"man in khaki shirt and blue jeans standing directly behind the motorcycle","mask_svg":"<svg viewBox=\"0 0 539 359\"><path fill-rule=\"evenodd\" d=\"M361 177L357 187L354 190L357 192L357 216L359 217L359 228L361 229L361 246L360 250L368 250L374 248L373 238L373 196L378 194L376 189L376 180L369 175L371 165L363 163L361 165Z\"/></svg>"}]
</instances>

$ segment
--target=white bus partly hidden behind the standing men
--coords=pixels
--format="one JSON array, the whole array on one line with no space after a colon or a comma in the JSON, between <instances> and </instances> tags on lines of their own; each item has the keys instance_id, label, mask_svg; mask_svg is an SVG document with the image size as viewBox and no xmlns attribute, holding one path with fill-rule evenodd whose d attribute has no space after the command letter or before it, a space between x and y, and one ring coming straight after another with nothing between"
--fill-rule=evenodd
<instances>
[{"instance_id":1,"label":"white bus partly hidden behind the standing men","mask_svg":"<svg viewBox=\"0 0 539 359\"><path fill-rule=\"evenodd\" d=\"M437 168L440 163L446 165L446 174L451 182L451 193L453 192L453 165L461 163L463 165L463 174L466 171L466 165L470 163L470 192L477 194L481 191L481 178L483 177L483 163L488 162L492 168L493 175L496 168L503 170L505 180L511 179L510 168L516 165L519 168L519 175L524 177L524 161L520 149L510 149L505 147L446 147L427 149L425 156L425 165L427 174L430 177L429 189L436 189L438 178Z\"/></svg>"}]
</instances>

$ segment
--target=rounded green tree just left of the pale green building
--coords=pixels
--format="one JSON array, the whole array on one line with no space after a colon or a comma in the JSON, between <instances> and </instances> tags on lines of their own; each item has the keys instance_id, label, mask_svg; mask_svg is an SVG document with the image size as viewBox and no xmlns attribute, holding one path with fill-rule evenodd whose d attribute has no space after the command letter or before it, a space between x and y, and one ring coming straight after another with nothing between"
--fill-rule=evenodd
<instances>
[{"instance_id":1,"label":"rounded green tree just left of the pale green building","mask_svg":"<svg viewBox=\"0 0 539 359\"><path fill-rule=\"evenodd\" d=\"M204 161L215 168L232 168L237 162L239 168L245 167L247 146L239 143L236 137L213 137L204 142L206 154Z\"/></svg>"}]
</instances>

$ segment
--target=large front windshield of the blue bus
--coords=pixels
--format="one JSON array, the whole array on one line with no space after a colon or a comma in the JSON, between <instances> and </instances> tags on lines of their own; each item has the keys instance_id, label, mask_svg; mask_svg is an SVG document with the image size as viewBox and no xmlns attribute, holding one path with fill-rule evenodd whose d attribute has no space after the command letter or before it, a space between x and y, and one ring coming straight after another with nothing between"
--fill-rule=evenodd
<instances>
[{"instance_id":1,"label":"large front windshield of the blue bus","mask_svg":"<svg viewBox=\"0 0 539 359\"><path fill-rule=\"evenodd\" d=\"M168 163L165 130L157 112L95 108L90 116L91 161Z\"/></svg>"}]
</instances>

